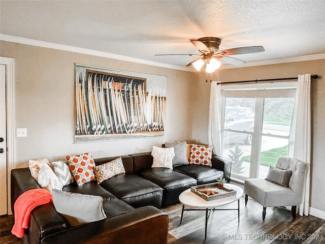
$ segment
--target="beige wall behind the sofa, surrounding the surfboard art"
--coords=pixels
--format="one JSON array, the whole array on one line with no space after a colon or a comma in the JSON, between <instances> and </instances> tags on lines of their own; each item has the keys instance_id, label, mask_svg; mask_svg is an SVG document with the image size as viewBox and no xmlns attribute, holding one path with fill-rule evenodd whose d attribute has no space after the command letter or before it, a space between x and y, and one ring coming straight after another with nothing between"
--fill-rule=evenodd
<instances>
[{"instance_id":1,"label":"beige wall behind the sofa, surrounding the surfboard art","mask_svg":"<svg viewBox=\"0 0 325 244\"><path fill-rule=\"evenodd\" d=\"M16 166L28 159L64 159L86 153L94 158L151 151L153 145L191 138L191 87L197 74L49 48L1 42L1 56L15 59ZM74 64L164 75L167 77L164 137L74 144Z\"/></svg>"}]
</instances>

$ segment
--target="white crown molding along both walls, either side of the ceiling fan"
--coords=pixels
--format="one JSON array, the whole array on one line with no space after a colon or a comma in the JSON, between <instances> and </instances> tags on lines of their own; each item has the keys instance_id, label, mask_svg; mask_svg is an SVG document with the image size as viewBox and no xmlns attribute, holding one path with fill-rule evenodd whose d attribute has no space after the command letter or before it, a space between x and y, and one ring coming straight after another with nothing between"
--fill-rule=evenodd
<instances>
[{"instance_id":1,"label":"white crown molding along both walls, either side of the ceiling fan","mask_svg":"<svg viewBox=\"0 0 325 244\"><path fill-rule=\"evenodd\" d=\"M140 58L122 56L122 55L113 54L113 53L95 51L95 50L90 50L90 49L86 49L86 48L73 47L73 46L55 44L55 43L50 43L50 42L43 42L43 41L27 39L27 38L22 38L22 37L9 36L9 35L4 35L4 34L0 34L0 40L7 41L7 42L26 44L26 45L32 45L32 46L53 48L53 49L69 51L69 52L77 52L77 53L88 54L88 55L93 55L93 56L113 58L113 59L123 60L123 61L127 61L127 62L156 66L156 67L167 68L167 69L197 72L195 69L190 68L190 67L169 65L169 64L153 62L153 61L149 61L149 60L145 60L145 59L140 59ZM275 58L275 59L269 59L269 60L249 62L241 67L233 66L233 65L222 65L220 67L220 70L238 69L238 68L246 68L246 67L253 67L253 66L262 66L262 65L275 65L275 64L302 62L302 61L317 60L317 59L325 59L325 53L299 56L299 57Z\"/></svg>"}]
</instances>

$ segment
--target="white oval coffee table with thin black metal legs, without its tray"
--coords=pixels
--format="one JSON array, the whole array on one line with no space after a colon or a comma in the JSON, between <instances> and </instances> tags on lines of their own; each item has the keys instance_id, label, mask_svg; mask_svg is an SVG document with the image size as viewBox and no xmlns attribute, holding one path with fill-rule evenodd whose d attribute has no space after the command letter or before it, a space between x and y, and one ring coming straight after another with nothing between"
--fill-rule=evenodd
<instances>
[{"instance_id":1,"label":"white oval coffee table with thin black metal legs, without its tray","mask_svg":"<svg viewBox=\"0 0 325 244\"><path fill-rule=\"evenodd\" d=\"M239 223L239 199L243 195L244 191L239 186L233 184L224 184L225 186L231 188L232 190L236 191L236 196L225 197L215 200L206 201L202 197L198 196L197 194L191 192L191 189L187 189L186 191L182 192L179 195L179 201L183 204L182 208L182 215L181 215L181 222L183 220L183 213L184 211L193 211L193 210L205 210L206 211L206 218L205 218L205 239L207 238L207 226L208 220L211 214L211 210L238 210L238 223ZM213 190L213 189L212 189ZM220 207L223 205L230 204L232 202L238 201L238 208L231 208L231 209L215 209L216 207ZM185 206L191 207L190 209L185 209ZM209 212L210 210L210 212Z\"/></svg>"}]
</instances>

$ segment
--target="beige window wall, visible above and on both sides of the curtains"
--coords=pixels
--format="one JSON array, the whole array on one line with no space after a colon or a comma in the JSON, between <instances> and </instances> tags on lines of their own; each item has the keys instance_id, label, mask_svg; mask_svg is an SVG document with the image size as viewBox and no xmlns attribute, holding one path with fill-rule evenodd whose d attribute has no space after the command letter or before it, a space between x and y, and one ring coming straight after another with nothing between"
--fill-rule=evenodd
<instances>
[{"instance_id":1,"label":"beige window wall, visible above and on both sides of the curtains","mask_svg":"<svg viewBox=\"0 0 325 244\"><path fill-rule=\"evenodd\" d=\"M311 198L310 206L325 211L325 59L312 60L278 65L256 66L240 69L216 71L214 81L241 81L256 79L272 79L298 77L299 74L317 74L318 79L312 79L312 167L311 167ZM193 104L196 115L193 116L192 138L202 143L208 143L208 119L210 83L202 76L196 85L199 101Z\"/></svg>"}]
</instances>

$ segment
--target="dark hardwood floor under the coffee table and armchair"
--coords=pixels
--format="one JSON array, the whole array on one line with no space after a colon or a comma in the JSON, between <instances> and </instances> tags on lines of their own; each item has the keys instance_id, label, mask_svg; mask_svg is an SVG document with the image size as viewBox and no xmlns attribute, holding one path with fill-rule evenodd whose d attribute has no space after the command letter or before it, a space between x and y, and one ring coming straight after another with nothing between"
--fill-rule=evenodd
<instances>
[{"instance_id":1,"label":"dark hardwood floor under the coffee table and armchair","mask_svg":"<svg viewBox=\"0 0 325 244\"><path fill-rule=\"evenodd\" d=\"M240 223L236 210L214 211L208 223L207 239L204 240L205 211L184 211L179 225L182 206L173 205L162 209L169 216L169 244L216 244L216 243L325 243L325 220L313 217L291 217L291 212L281 207L268 207L265 221L263 207L254 200L240 199ZM236 208L237 201L225 206ZM21 239L11 234L12 216L2 216L0 243L20 244ZM140 244L140 243L139 243ZM154 243L152 243L154 244Z\"/></svg>"}]
</instances>

